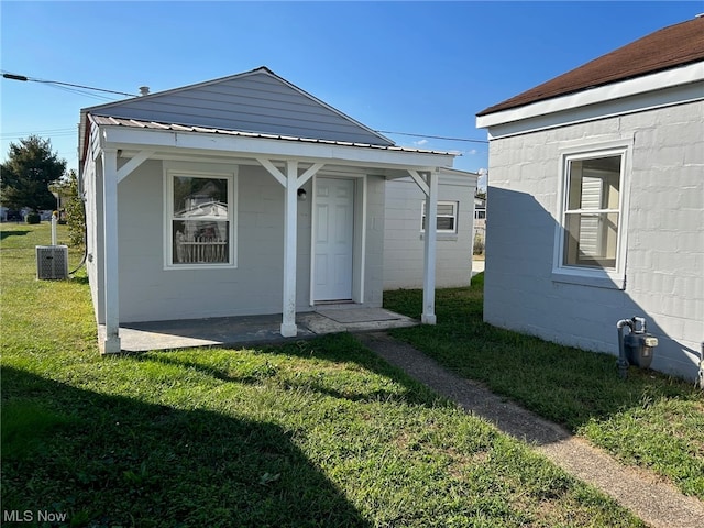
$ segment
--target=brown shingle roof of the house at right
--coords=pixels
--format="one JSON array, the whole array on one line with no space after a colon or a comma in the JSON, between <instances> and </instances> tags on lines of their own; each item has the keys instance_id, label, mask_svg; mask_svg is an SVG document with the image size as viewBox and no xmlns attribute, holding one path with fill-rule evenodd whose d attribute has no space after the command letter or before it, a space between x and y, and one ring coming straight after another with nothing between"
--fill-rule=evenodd
<instances>
[{"instance_id":1,"label":"brown shingle roof of the house at right","mask_svg":"<svg viewBox=\"0 0 704 528\"><path fill-rule=\"evenodd\" d=\"M698 61L704 61L704 16L656 31L476 116L524 107Z\"/></svg>"}]
</instances>

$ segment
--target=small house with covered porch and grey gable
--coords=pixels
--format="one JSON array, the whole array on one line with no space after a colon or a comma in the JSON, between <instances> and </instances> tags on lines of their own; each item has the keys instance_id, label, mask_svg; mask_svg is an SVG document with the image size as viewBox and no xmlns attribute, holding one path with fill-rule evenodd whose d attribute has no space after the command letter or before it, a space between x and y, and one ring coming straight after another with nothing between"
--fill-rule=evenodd
<instances>
[{"instance_id":1,"label":"small house with covered porch and grey gable","mask_svg":"<svg viewBox=\"0 0 704 528\"><path fill-rule=\"evenodd\" d=\"M102 352L123 322L282 314L294 337L318 304L378 307L387 182L409 178L436 224L439 179L463 174L264 67L84 109L79 152ZM433 323L437 231L422 244Z\"/></svg>"}]
</instances>

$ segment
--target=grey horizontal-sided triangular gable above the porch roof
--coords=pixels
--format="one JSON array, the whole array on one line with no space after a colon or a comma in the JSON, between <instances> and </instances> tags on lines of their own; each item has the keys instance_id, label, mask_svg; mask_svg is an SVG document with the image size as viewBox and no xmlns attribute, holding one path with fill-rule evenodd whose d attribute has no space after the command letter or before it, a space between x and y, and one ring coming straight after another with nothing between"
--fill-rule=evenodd
<instances>
[{"instance_id":1,"label":"grey horizontal-sided triangular gable above the porch roof","mask_svg":"<svg viewBox=\"0 0 704 528\"><path fill-rule=\"evenodd\" d=\"M389 139L266 67L90 107L81 113L255 134L394 145Z\"/></svg>"}]
</instances>

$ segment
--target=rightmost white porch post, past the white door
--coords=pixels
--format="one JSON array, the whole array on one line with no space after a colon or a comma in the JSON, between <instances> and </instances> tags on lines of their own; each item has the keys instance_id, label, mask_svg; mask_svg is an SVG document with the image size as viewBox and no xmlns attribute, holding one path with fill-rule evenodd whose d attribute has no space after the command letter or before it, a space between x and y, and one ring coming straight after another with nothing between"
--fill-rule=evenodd
<instances>
[{"instance_id":1,"label":"rightmost white porch post, past the white door","mask_svg":"<svg viewBox=\"0 0 704 528\"><path fill-rule=\"evenodd\" d=\"M424 324L436 323L436 240L438 222L438 173L428 173L426 196L426 232L424 235L422 315Z\"/></svg>"}]
</instances>

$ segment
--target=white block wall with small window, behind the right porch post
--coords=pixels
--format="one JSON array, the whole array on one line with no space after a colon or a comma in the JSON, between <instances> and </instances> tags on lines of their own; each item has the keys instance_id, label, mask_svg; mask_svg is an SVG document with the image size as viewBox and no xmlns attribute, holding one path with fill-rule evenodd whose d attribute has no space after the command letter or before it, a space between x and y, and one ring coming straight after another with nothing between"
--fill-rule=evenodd
<instances>
[{"instance_id":1,"label":"white block wall with small window, behind the right porch post","mask_svg":"<svg viewBox=\"0 0 704 528\"><path fill-rule=\"evenodd\" d=\"M474 178L441 177L439 201L458 201L457 234L438 233L438 287L468 286L472 274ZM424 239L420 231L425 195L410 178L386 184L384 289L421 288Z\"/></svg>"}]
</instances>

